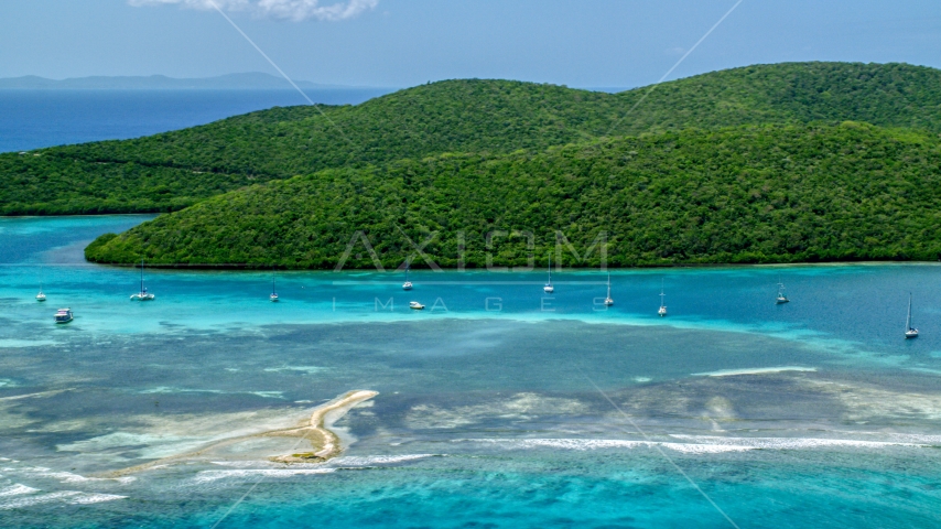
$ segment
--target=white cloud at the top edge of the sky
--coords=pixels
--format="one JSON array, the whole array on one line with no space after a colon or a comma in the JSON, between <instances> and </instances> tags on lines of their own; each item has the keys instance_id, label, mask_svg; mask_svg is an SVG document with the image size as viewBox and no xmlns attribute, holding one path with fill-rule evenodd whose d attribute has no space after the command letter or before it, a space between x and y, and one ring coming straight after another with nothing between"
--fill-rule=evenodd
<instances>
[{"instance_id":1,"label":"white cloud at the top edge of the sky","mask_svg":"<svg viewBox=\"0 0 941 529\"><path fill-rule=\"evenodd\" d=\"M358 17L375 8L379 0L345 0L322 6L321 0L128 0L131 6L179 4L193 9L214 9L218 6L226 11L248 11L257 17L292 20L307 19L346 20Z\"/></svg>"}]
</instances>

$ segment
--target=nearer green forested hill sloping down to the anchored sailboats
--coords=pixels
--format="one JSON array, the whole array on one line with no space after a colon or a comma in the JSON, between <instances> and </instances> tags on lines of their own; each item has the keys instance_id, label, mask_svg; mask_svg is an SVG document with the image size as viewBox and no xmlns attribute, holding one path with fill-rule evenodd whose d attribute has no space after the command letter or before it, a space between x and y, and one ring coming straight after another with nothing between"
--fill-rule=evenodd
<instances>
[{"instance_id":1,"label":"nearer green forested hill sloping down to the anchored sailboats","mask_svg":"<svg viewBox=\"0 0 941 529\"><path fill-rule=\"evenodd\" d=\"M941 140L846 122L744 126L592 140L548 151L444 154L274 181L163 215L86 249L98 262L370 268L540 261L561 231L584 255L603 231L612 266L937 259ZM508 237L513 230L530 231ZM462 235L463 234L463 235ZM408 239L407 239L408 237ZM566 248L563 245L563 248ZM567 249L566 266L596 266ZM419 259L414 266L423 266Z\"/></svg>"}]
</instances>

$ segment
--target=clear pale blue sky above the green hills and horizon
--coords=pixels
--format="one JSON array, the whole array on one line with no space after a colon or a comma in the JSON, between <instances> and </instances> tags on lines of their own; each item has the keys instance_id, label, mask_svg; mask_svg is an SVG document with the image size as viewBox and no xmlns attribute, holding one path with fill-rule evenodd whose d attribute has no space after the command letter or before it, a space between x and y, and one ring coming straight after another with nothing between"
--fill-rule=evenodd
<instances>
[{"instance_id":1,"label":"clear pale blue sky above the green hills and horizon","mask_svg":"<svg viewBox=\"0 0 941 529\"><path fill-rule=\"evenodd\" d=\"M0 77L274 73L208 1L3 0ZM215 1L298 79L632 87L657 82L736 0ZM938 0L744 0L670 78L783 61L941 67L939 51Z\"/></svg>"}]
</instances>

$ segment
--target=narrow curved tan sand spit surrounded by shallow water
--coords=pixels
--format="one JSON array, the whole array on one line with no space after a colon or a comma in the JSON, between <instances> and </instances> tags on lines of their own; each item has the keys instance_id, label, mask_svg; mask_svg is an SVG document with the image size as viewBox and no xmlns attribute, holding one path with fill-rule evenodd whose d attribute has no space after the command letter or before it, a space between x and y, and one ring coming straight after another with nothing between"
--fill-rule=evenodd
<instances>
[{"instance_id":1,"label":"narrow curved tan sand spit surrounded by shallow water","mask_svg":"<svg viewBox=\"0 0 941 529\"><path fill-rule=\"evenodd\" d=\"M269 457L270 461L278 463L323 463L336 457L343 452L343 444L340 443L339 436L331 430L333 424L337 420L342 419L353 407L365 402L377 395L379 395L378 391L349 391L331 400L329 402L314 408L311 413L311 418L305 419L296 427L268 430L264 432L214 441L192 452L163 457L141 465L122 468L120 471L109 472L106 474L106 477L120 477L150 468L166 466L183 460L207 455L214 450L259 438L296 438L298 443L294 445L294 450L299 449L305 441L310 442L310 451L277 455Z\"/></svg>"}]
</instances>

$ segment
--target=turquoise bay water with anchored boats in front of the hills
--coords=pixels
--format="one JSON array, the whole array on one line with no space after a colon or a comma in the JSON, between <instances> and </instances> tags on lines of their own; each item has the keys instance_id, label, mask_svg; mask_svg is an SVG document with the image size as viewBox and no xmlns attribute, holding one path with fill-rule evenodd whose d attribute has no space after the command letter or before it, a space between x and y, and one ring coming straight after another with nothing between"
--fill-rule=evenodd
<instances>
[{"instance_id":1,"label":"turquoise bay water with anchored boats in front of the hills","mask_svg":"<svg viewBox=\"0 0 941 529\"><path fill-rule=\"evenodd\" d=\"M939 523L933 263L614 271L609 310L597 271L278 272L270 303L270 272L149 269L133 303L82 249L147 218L0 219L2 526ZM328 463L259 440L108 474L353 389L379 395Z\"/></svg>"}]
</instances>

